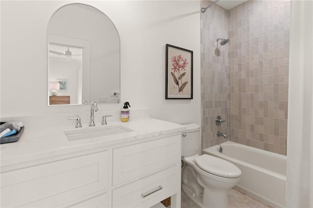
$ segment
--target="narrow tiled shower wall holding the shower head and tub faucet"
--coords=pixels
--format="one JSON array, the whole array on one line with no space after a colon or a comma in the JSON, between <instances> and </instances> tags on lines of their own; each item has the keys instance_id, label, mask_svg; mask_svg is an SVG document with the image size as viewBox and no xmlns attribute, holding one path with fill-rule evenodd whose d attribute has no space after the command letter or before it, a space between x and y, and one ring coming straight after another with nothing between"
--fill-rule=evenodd
<instances>
[{"instance_id":1,"label":"narrow tiled shower wall holding the shower head and tub faucet","mask_svg":"<svg viewBox=\"0 0 313 208\"><path fill-rule=\"evenodd\" d=\"M201 1L206 7L212 1ZM228 12L217 4L201 13L201 141L202 149L226 141L217 137L220 130L227 132L227 123L215 125L215 118L224 120L228 113L228 45L217 48L216 38L228 36ZM216 55L220 53L220 55Z\"/></svg>"}]
</instances>

